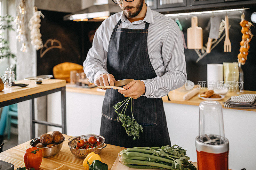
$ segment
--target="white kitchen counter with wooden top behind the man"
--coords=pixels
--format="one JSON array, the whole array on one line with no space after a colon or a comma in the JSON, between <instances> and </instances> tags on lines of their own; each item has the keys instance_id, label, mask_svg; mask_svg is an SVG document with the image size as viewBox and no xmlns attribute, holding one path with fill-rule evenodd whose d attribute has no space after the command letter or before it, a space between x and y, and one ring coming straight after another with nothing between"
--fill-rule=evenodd
<instances>
[{"instance_id":1,"label":"white kitchen counter with wooden top behind the man","mask_svg":"<svg viewBox=\"0 0 256 170\"><path fill-rule=\"evenodd\" d=\"M202 92L204 89L202 89ZM191 161L196 162L195 138L198 136L199 108L201 100L196 96L190 100L183 100L186 92L179 89L169 93L171 101L163 97L167 126L172 144L178 144L187 150ZM244 93L256 93L245 91ZM101 109L104 91L97 88L85 89L66 86L67 100L67 134L79 136L81 134L99 134ZM222 101L230 96L228 93ZM60 123L60 95L50 94L47 97L47 121ZM254 169L256 148L256 109L223 108L225 137L229 140L229 168ZM84 128L76 128L77 125ZM121 126L121 125L120 125ZM48 128L48 131L61 130ZM246 157L241 155L247 155Z\"/></svg>"}]
</instances>

